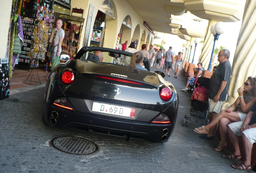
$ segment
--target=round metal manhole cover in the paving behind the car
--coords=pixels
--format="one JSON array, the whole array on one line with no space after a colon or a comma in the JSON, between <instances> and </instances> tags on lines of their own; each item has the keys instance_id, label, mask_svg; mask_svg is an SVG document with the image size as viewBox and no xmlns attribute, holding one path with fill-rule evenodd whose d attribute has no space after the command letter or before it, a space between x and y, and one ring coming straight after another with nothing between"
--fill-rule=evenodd
<instances>
[{"instance_id":1,"label":"round metal manhole cover in the paving behind the car","mask_svg":"<svg viewBox=\"0 0 256 173\"><path fill-rule=\"evenodd\" d=\"M92 155L99 151L99 147L95 143L81 137L55 137L50 144L54 149L73 155Z\"/></svg>"}]
</instances>

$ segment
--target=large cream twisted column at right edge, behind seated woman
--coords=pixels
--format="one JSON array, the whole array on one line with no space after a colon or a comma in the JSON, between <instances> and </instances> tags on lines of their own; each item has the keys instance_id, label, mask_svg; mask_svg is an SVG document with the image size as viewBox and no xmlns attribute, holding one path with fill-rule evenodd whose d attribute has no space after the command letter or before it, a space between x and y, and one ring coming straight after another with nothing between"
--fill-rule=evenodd
<instances>
[{"instance_id":1,"label":"large cream twisted column at right edge, behind seated woman","mask_svg":"<svg viewBox=\"0 0 256 173\"><path fill-rule=\"evenodd\" d=\"M223 109L233 104L238 97L237 89L249 76L256 75L256 0L247 0L244 8L243 22L232 64L232 77L230 80L228 98Z\"/></svg>"}]
</instances>

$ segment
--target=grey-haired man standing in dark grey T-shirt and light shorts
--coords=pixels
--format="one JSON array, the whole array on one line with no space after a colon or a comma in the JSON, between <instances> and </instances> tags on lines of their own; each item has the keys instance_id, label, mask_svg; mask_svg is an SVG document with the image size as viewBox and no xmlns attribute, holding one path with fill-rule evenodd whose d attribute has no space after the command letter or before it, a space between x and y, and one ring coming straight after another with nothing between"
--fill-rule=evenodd
<instances>
[{"instance_id":1,"label":"grey-haired man standing in dark grey T-shirt and light shorts","mask_svg":"<svg viewBox=\"0 0 256 173\"><path fill-rule=\"evenodd\" d=\"M229 62L230 52L227 49L222 49L218 54L218 61L220 64L217 66L215 72L210 79L209 88L209 116L210 121L221 111L221 106L227 98L227 86L231 77L231 64ZM216 125L212 127L208 134L201 135L203 139L213 139Z\"/></svg>"}]
</instances>

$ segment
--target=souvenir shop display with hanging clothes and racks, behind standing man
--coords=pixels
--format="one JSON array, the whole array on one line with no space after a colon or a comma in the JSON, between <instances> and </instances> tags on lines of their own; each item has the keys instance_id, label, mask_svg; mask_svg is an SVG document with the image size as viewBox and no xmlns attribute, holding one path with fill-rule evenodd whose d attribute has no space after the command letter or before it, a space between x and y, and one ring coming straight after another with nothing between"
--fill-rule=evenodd
<instances>
[{"instance_id":1,"label":"souvenir shop display with hanging clothes and racks, behind standing man","mask_svg":"<svg viewBox=\"0 0 256 173\"><path fill-rule=\"evenodd\" d=\"M23 33L17 34L17 38L20 38L17 39L19 44L15 43L15 39L14 42L10 39L10 48L14 45L11 52L12 73L15 68L49 70L50 52L47 52L47 48L53 40L52 33L56 30L55 23L59 18L63 21L62 28L65 31L61 54L68 54L71 57L76 54L84 19L82 9L70 10L70 0L12 0L12 13L15 16L12 21L14 26L15 23L21 23L18 30L12 27L12 33L16 34L23 30ZM20 50L15 50L15 47Z\"/></svg>"}]
</instances>

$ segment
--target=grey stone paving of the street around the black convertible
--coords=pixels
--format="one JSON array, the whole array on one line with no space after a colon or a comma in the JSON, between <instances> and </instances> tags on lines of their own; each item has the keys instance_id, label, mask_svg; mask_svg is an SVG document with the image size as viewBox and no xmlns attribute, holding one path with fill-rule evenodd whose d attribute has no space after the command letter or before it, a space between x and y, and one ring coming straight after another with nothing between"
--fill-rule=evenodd
<instances>
[{"instance_id":1,"label":"grey stone paving of the street around the black convertible","mask_svg":"<svg viewBox=\"0 0 256 173\"><path fill-rule=\"evenodd\" d=\"M153 69L152 69L153 71ZM163 71L163 70L162 70ZM71 129L58 129L42 123L44 87L24 89L0 101L1 173L238 173L230 167L239 161L224 159L227 150L217 152L219 141L198 138L193 129L183 127L191 93L181 92L186 79L179 75L165 80L174 84L180 103L174 132L166 143L155 144ZM99 145L99 152L75 156L49 145L57 136L72 135Z\"/></svg>"}]
</instances>

